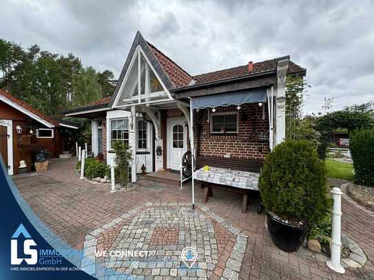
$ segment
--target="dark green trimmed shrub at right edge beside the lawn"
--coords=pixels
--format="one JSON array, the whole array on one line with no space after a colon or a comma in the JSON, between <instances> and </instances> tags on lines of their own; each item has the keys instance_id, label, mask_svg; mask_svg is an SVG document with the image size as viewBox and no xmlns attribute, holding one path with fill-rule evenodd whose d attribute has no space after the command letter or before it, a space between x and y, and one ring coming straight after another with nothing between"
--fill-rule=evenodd
<instances>
[{"instance_id":1,"label":"dark green trimmed shrub at right edge beside the lawn","mask_svg":"<svg viewBox=\"0 0 374 280\"><path fill-rule=\"evenodd\" d=\"M350 136L355 184L374 186L374 129L356 129Z\"/></svg>"}]
</instances>

